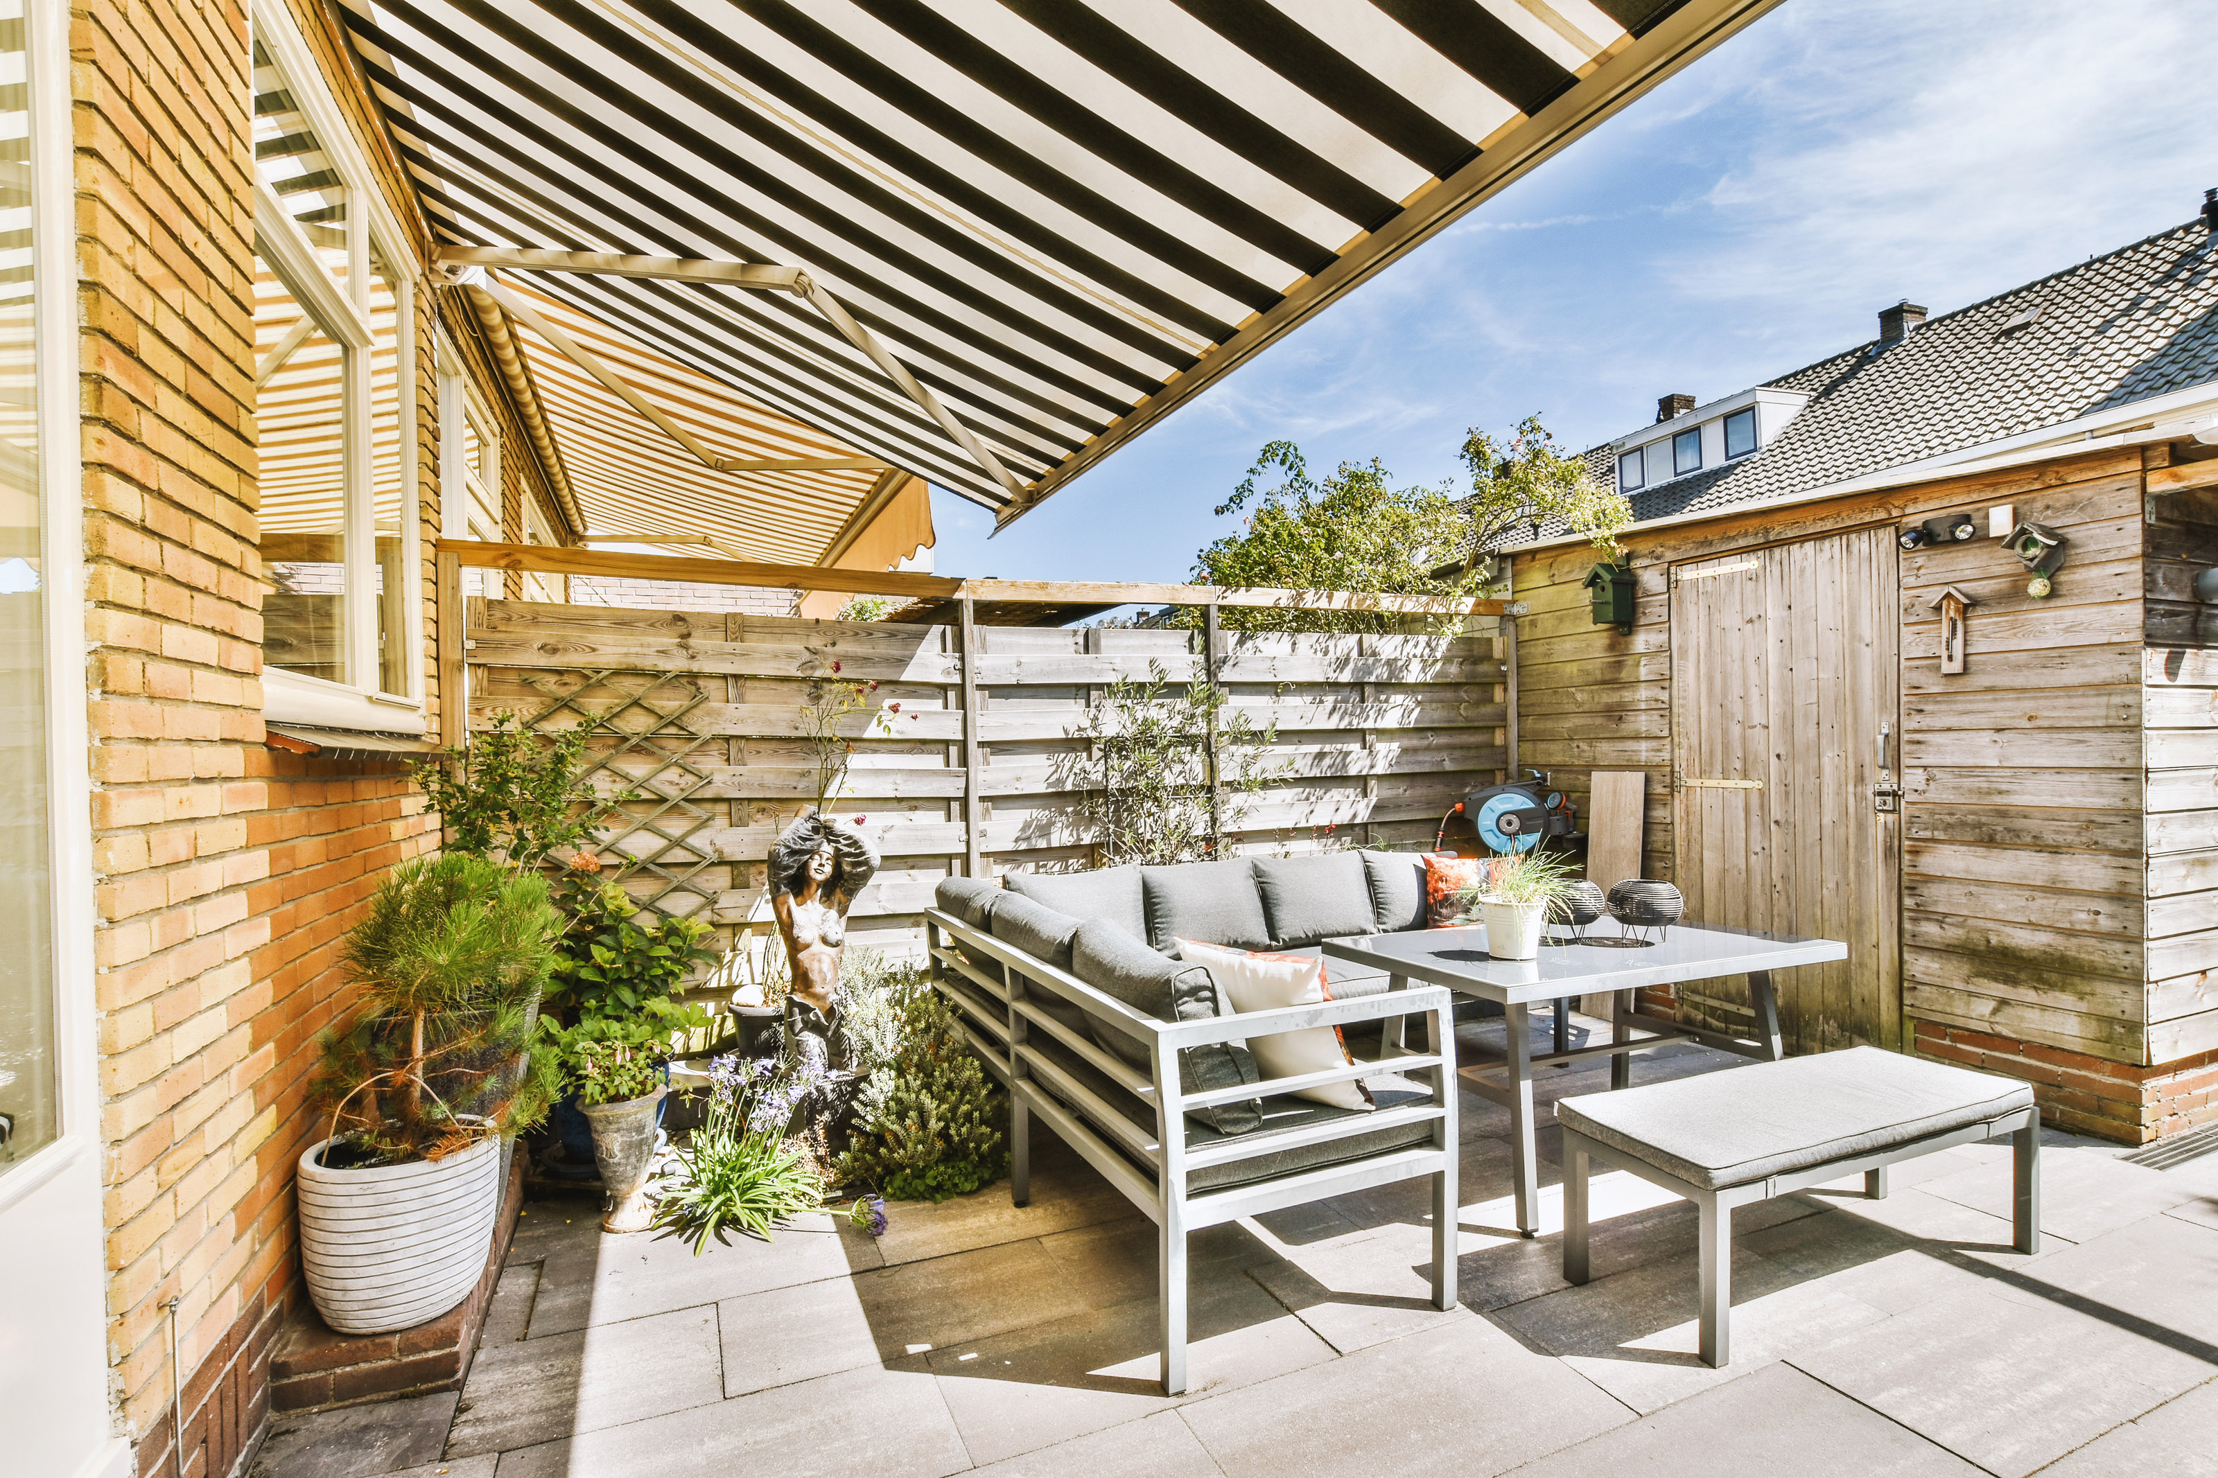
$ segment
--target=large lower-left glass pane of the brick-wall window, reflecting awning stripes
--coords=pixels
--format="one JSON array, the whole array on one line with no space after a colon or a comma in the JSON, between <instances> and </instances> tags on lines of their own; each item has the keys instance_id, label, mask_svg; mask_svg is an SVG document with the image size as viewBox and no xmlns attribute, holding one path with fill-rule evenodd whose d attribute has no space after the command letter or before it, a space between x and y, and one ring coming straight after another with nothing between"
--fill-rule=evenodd
<instances>
[{"instance_id":1,"label":"large lower-left glass pane of the brick-wall window, reflecting awning stripes","mask_svg":"<svg viewBox=\"0 0 2218 1478\"><path fill-rule=\"evenodd\" d=\"M346 680L344 355L255 261L262 660Z\"/></svg>"}]
</instances>

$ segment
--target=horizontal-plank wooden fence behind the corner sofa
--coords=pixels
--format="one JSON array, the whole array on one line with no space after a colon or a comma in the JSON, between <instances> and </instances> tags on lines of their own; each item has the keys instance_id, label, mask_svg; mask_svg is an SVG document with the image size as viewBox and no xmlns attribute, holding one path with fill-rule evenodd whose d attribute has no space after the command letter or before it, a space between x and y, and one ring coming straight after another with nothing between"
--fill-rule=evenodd
<instances>
[{"instance_id":1,"label":"horizontal-plank wooden fence behind the corner sofa","mask_svg":"<svg viewBox=\"0 0 2218 1478\"><path fill-rule=\"evenodd\" d=\"M878 682L872 707L845 725L856 753L834 804L836 815L863 818L885 860L849 933L876 946L914 946L934 886L963 871L967 787L976 787L985 873L1091 866L1076 738L1087 705L1118 678L1144 678L1151 660L1176 682L1200 674L1191 632L978 627L983 762L971 776L960 627L519 601L468 607L472 727L501 709L557 707L546 727L621 709L619 727L661 736L597 736L592 753L621 751L614 771L641 782L688 753L643 782L657 800L628 809L654 824L623 849L663 853L668 873L685 873L659 906L708 909L725 926L767 922L763 858L814 798L801 709L810 680L836 663L838 678ZM1502 773L1493 627L1488 616L1473 620L1486 634L1466 636L1227 634L1220 680L1231 702L1258 729L1278 725L1266 784L1235 849L1431 844L1442 811ZM610 676L588 685L590 674ZM672 804L679 791L685 802ZM665 882L643 871L628 886L650 895Z\"/></svg>"}]
</instances>

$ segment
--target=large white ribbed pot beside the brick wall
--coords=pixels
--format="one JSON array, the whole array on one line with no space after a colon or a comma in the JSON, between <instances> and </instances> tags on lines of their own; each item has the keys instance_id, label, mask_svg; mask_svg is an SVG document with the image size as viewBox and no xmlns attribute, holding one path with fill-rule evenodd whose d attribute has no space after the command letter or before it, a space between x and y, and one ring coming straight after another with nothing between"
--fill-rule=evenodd
<instances>
[{"instance_id":1,"label":"large white ribbed pot beside the brick wall","mask_svg":"<svg viewBox=\"0 0 2218 1478\"><path fill-rule=\"evenodd\" d=\"M299 1261L339 1334L390 1334L470 1296L501 1217L501 1141L408 1166L326 1170L324 1139L299 1157Z\"/></svg>"}]
</instances>

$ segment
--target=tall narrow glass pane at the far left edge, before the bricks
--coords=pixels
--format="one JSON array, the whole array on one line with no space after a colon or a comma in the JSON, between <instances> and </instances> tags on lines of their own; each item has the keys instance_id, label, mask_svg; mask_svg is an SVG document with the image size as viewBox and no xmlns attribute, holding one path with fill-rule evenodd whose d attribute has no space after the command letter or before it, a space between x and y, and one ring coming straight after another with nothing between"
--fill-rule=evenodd
<instances>
[{"instance_id":1,"label":"tall narrow glass pane at the far left edge, before the bricks","mask_svg":"<svg viewBox=\"0 0 2218 1478\"><path fill-rule=\"evenodd\" d=\"M0 889L7 891L7 948L0 951L0 1168L51 1143L62 1130L53 1079L27 60L22 0L0 0Z\"/></svg>"}]
</instances>

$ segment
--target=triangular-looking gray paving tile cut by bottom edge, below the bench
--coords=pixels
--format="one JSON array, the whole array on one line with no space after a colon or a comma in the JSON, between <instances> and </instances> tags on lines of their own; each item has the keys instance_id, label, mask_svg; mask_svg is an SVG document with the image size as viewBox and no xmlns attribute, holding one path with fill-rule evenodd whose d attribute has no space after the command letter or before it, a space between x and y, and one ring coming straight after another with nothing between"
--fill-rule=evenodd
<instances>
[{"instance_id":1,"label":"triangular-looking gray paving tile cut by bottom edge, below the bench","mask_svg":"<svg viewBox=\"0 0 2218 1478\"><path fill-rule=\"evenodd\" d=\"M1626 1423L1515 1478L1976 1478L1978 1469L1788 1365Z\"/></svg>"}]
</instances>

